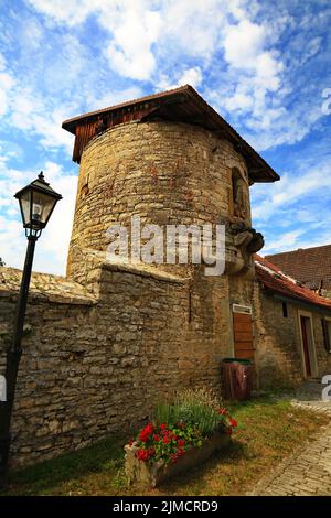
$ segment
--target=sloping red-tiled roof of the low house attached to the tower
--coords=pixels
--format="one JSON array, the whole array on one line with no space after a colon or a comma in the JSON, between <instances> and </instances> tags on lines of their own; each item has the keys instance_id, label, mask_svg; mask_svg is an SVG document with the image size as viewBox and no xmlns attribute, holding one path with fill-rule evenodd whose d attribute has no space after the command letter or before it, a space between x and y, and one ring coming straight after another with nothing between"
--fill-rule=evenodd
<instances>
[{"instance_id":1,"label":"sloping red-tiled roof of the low house attached to the tower","mask_svg":"<svg viewBox=\"0 0 331 518\"><path fill-rule=\"evenodd\" d=\"M296 279L284 273L276 265L257 253L255 255L255 272L257 280L266 290L293 301L331 311L331 300L323 299L309 288L299 285Z\"/></svg>"}]
</instances>

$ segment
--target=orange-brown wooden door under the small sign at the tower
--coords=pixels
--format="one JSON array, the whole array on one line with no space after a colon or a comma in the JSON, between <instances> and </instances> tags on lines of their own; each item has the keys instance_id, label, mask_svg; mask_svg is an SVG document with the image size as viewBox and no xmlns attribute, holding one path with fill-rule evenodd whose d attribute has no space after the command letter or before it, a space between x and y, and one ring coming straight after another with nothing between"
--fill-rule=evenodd
<instances>
[{"instance_id":1,"label":"orange-brown wooden door under the small sign at the tower","mask_svg":"<svg viewBox=\"0 0 331 518\"><path fill-rule=\"evenodd\" d=\"M235 358L254 361L255 348L250 314L233 313L233 334Z\"/></svg>"}]
</instances>

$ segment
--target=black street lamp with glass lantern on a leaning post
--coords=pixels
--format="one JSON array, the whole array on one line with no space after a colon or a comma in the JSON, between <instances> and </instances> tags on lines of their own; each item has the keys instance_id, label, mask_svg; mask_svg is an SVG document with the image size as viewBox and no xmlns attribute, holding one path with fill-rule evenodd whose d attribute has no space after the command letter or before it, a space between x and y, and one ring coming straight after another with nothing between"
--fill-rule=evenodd
<instances>
[{"instance_id":1,"label":"black street lamp with glass lantern on a leaning post","mask_svg":"<svg viewBox=\"0 0 331 518\"><path fill-rule=\"evenodd\" d=\"M43 172L39 174L34 182L19 191L14 197L20 202L23 227L25 228L25 236L28 238L28 249L14 316L12 344L7 352L7 400L0 402L0 487L3 487L7 481L11 440L10 421L19 364L22 355L21 342L23 336L23 325L35 241L40 237L42 229L47 225L56 203L58 199L62 199L61 194L55 193L55 191L50 187L50 184L45 182Z\"/></svg>"}]
</instances>

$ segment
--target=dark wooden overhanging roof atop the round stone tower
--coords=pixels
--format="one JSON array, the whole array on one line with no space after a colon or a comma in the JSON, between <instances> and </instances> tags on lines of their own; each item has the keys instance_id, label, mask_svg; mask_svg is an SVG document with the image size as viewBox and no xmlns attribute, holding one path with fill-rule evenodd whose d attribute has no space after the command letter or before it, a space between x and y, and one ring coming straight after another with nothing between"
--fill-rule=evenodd
<instances>
[{"instance_id":1,"label":"dark wooden overhanging roof atop the round stone tower","mask_svg":"<svg viewBox=\"0 0 331 518\"><path fill-rule=\"evenodd\" d=\"M218 115L190 85L141 97L120 105L73 117L62 128L76 136L73 160L79 162L84 147L96 134L102 119L107 128L131 120L153 118L202 126L231 141L246 160L252 182L275 182L279 175L221 115Z\"/></svg>"}]
</instances>

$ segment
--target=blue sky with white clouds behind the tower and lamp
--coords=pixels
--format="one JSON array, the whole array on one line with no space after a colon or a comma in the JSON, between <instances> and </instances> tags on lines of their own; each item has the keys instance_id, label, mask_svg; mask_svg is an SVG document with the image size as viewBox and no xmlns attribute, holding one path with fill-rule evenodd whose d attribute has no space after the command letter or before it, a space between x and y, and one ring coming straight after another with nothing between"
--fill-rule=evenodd
<instances>
[{"instance_id":1,"label":"blue sky with white clouds behind the tower and lamp","mask_svg":"<svg viewBox=\"0 0 331 518\"><path fill-rule=\"evenodd\" d=\"M329 0L0 0L0 257L22 268L13 194L63 195L34 270L63 274L78 165L63 120L190 84L280 174L252 187L263 253L331 242Z\"/></svg>"}]
</instances>

